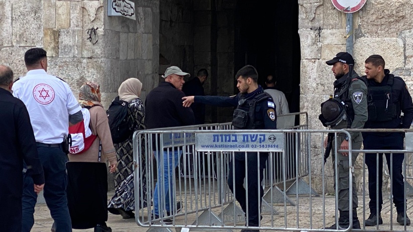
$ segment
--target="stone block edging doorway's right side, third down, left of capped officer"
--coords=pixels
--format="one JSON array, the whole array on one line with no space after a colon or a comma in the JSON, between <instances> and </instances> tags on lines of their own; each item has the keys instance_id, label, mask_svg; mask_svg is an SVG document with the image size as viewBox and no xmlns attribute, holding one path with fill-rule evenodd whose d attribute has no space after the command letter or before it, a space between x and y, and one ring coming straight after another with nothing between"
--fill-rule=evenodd
<instances>
[{"instance_id":1,"label":"stone block edging doorway's right side, third down, left of capped officer","mask_svg":"<svg viewBox=\"0 0 413 232\"><path fill-rule=\"evenodd\" d=\"M326 60L301 60L301 94L332 94L335 79L330 69Z\"/></svg>"}]
</instances>

